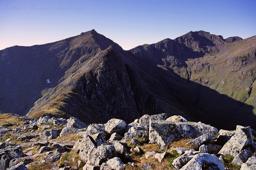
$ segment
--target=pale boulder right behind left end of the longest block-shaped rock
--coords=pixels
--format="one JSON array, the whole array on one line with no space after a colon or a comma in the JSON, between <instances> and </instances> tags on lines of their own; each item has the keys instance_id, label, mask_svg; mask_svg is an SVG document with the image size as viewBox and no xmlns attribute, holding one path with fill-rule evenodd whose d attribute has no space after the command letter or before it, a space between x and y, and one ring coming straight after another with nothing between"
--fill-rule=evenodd
<instances>
[{"instance_id":1,"label":"pale boulder right behind left end of the longest block-shaped rock","mask_svg":"<svg viewBox=\"0 0 256 170\"><path fill-rule=\"evenodd\" d=\"M165 121L168 118L167 114L158 114L158 115L143 115L140 119L139 119L139 124L141 124L147 131L149 131L149 120L163 120Z\"/></svg>"}]
</instances>

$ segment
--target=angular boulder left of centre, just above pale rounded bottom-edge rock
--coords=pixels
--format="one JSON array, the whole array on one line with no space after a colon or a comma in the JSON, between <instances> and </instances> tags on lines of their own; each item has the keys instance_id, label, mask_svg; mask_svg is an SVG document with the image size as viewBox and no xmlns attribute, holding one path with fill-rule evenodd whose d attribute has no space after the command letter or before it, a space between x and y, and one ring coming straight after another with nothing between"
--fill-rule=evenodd
<instances>
[{"instance_id":1,"label":"angular boulder left of centre, just above pale rounded bottom-edge rock","mask_svg":"<svg viewBox=\"0 0 256 170\"><path fill-rule=\"evenodd\" d=\"M117 156L117 152L114 145L100 145L95 150L93 155L90 155L90 158L87 160L87 163L94 165L101 165L103 162L108 161Z\"/></svg>"}]
</instances>

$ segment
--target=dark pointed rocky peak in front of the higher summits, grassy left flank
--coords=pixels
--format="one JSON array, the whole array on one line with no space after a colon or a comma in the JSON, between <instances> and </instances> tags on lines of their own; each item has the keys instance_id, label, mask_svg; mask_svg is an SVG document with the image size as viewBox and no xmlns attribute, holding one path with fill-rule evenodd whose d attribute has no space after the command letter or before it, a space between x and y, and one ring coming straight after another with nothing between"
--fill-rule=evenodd
<instances>
[{"instance_id":1,"label":"dark pointed rocky peak in front of the higher summits, grassy left flank","mask_svg":"<svg viewBox=\"0 0 256 170\"><path fill-rule=\"evenodd\" d=\"M99 123L111 118L131 122L141 115L161 113L161 110L139 75L110 46L41 98L28 116L40 117L49 112L56 116L78 117L86 123Z\"/></svg>"}]
</instances>

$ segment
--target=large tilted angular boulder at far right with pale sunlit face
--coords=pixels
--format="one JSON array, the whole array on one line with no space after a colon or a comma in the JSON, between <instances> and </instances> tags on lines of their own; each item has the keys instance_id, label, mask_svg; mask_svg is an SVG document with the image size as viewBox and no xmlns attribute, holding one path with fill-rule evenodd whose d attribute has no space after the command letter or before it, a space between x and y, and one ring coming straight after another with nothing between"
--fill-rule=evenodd
<instances>
[{"instance_id":1,"label":"large tilted angular boulder at far right with pale sunlit face","mask_svg":"<svg viewBox=\"0 0 256 170\"><path fill-rule=\"evenodd\" d=\"M242 149L253 144L250 127L237 126L234 136L222 147L219 154L238 155Z\"/></svg>"}]
</instances>

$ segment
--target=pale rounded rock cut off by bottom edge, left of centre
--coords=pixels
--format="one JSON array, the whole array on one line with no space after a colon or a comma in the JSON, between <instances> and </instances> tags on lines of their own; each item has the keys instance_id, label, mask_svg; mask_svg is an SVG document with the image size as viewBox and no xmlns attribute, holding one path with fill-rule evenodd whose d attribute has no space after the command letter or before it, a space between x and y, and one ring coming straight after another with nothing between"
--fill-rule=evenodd
<instances>
[{"instance_id":1,"label":"pale rounded rock cut off by bottom edge, left of centre","mask_svg":"<svg viewBox=\"0 0 256 170\"><path fill-rule=\"evenodd\" d=\"M120 170L125 169L125 164L118 157L114 157L109 159L106 163L103 163L100 166L100 170Z\"/></svg>"}]
</instances>

